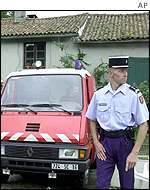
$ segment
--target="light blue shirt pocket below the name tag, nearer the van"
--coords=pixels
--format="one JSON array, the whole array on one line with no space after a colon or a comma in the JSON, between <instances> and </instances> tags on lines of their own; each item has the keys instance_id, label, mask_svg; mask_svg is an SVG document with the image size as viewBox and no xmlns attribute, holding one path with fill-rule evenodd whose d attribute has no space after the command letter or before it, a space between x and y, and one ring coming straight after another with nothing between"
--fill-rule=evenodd
<instances>
[{"instance_id":1,"label":"light blue shirt pocket below the name tag, nearer the van","mask_svg":"<svg viewBox=\"0 0 150 190\"><path fill-rule=\"evenodd\" d=\"M97 117L100 119L100 121L106 122L109 120L110 112L108 106L98 106L97 110L98 110Z\"/></svg>"}]
</instances>

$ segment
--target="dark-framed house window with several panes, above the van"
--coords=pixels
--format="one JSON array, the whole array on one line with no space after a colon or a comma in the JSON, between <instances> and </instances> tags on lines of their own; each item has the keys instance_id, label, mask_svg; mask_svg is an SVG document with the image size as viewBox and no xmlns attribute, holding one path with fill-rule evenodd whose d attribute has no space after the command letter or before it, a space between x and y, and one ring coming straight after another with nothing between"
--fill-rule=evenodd
<instances>
[{"instance_id":1,"label":"dark-framed house window with several panes, above the van","mask_svg":"<svg viewBox=\"0 0 150 190\"><path fill-rule=\"evenodd\" d=\"M26 43L24 45L24 69L34 68L36 61L42 62L45 68L46 44L45 42Z\"/></svg>"}]
</instances>

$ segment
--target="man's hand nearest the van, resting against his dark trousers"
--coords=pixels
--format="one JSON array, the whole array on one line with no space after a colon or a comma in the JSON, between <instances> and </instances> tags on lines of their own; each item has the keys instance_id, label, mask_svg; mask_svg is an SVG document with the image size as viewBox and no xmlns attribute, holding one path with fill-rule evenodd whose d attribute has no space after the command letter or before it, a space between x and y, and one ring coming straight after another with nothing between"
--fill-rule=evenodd
<instances>
[{"instance_id":1,"label":"man's hand nearest the van, resting against his dark trousers","mask_svg":"<svg viewBox=\"0 0 150 190\"><path fill-rule=\"evenodd\" d=\"M100 160L106 160L106 155L105 155L106 150L105 150L104 146L99 141L97 141L94 144L95 144L97 157Z\"/></svg>"}]
</instances>

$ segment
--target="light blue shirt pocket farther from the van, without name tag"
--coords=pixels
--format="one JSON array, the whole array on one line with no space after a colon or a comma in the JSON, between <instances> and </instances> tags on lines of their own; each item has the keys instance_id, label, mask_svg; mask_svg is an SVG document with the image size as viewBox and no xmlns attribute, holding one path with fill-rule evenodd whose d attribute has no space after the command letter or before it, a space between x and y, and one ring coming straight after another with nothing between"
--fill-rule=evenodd
<instances>
[{"instance_id":1,"label":"light blue shirt pocket farther from the van, without name tag","mask_svg":"<svg viewBox=\"0 0 150 190\"><path fill-rule=\"evenodd\" d=\"M126 125L128 125L130 121L130 111L128 107L115 107L115 114L116 114L116 119L119 122L122 122Z\"/></svg>"}]
</instances>

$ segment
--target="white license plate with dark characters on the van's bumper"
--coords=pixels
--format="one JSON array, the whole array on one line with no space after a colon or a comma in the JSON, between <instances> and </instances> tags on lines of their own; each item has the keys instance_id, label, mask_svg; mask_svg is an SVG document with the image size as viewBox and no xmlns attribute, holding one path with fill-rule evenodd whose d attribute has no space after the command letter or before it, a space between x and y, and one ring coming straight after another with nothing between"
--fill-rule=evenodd
<instances>
[{"instance_id":1,"label":"white license plate with dark characters on the van's bumper","mask_svg":"<svg viewBox=\"0 0 150 190\"><path fill-rule=\"evenodd\" d=\"M51 167L55 170L78 170L78 164L52 163Z\"/></svg>"}]
</instances>

